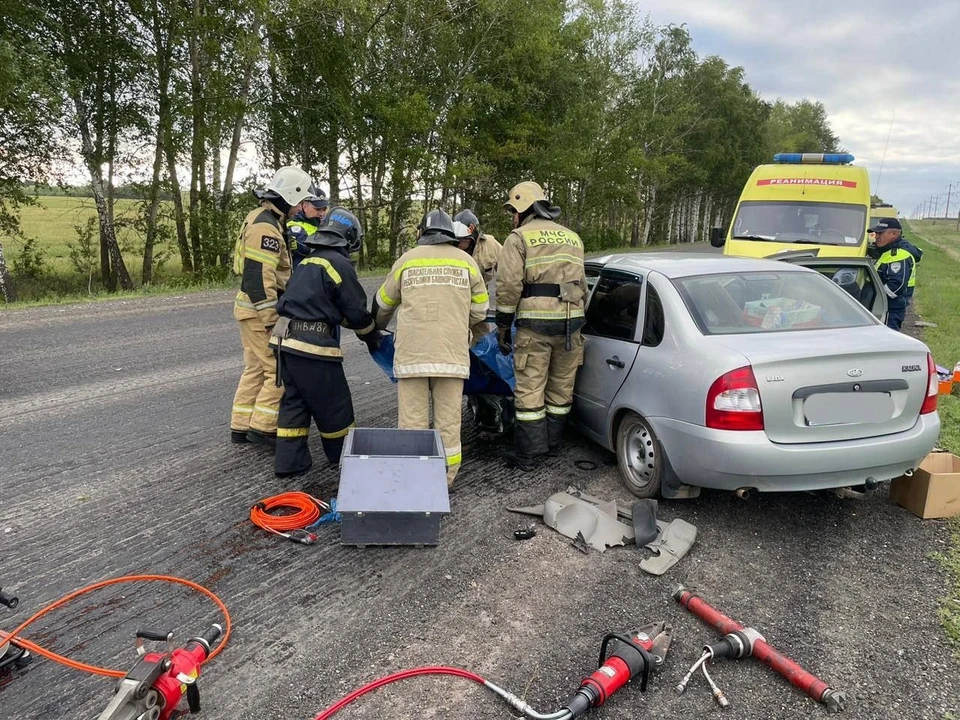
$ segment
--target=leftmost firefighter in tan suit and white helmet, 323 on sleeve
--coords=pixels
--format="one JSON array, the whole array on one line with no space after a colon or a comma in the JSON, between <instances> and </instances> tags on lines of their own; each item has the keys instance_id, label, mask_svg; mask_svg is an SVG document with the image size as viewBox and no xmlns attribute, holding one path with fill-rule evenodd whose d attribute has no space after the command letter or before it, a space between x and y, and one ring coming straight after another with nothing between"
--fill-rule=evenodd
<instances>
[{"instance_id":1,"label":"leftmost firefighter in tan suit and white helmet, 323 on sleeve","mask_svg":"<svg viewBox=\"0 0 960 720\"><path fill-rule=\"evenodd\" d=\"M233 442L273 447L280 396L276 362L269 346L277 322L277 300L290 278L290 252L284 223L318 195L310 176L298 167L282 167L263 190L254 191L260 207L243 221L234 248L233 271L241 276L233 317L240 325L243 374L233 398Z\"/></svg>"}]
</instances>

